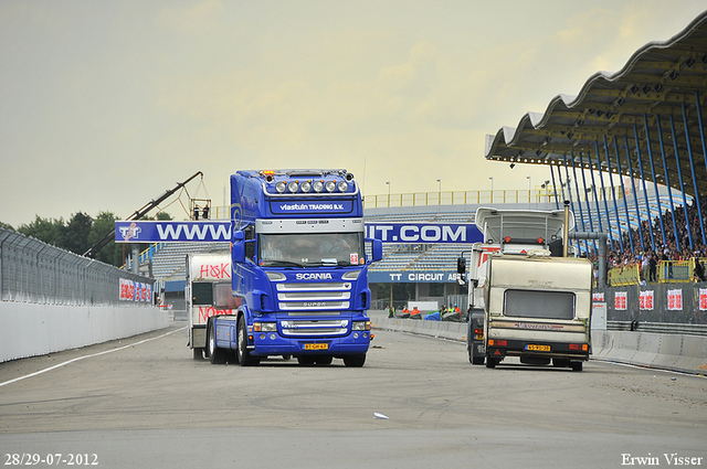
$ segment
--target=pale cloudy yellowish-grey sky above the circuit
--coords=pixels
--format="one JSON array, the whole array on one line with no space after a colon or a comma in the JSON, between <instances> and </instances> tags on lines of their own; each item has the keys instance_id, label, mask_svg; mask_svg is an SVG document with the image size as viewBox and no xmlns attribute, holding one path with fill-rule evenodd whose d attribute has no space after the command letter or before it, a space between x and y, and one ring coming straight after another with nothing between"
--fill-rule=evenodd
<instances>
[{"instance_id":1,"label":"pale cloudy yellowish-grey sky above the circuit","mask_svg":"<svg viewBox=\"0 0 707 469\"><path fill-rule=\"evenodd\" d=\"M486 161L486 135L705 8L2 0L0 222L125 218L197 171L214 205L241 169L345 168L367 196L526 189L548 169Z\"/></svg>"}]
</instances>

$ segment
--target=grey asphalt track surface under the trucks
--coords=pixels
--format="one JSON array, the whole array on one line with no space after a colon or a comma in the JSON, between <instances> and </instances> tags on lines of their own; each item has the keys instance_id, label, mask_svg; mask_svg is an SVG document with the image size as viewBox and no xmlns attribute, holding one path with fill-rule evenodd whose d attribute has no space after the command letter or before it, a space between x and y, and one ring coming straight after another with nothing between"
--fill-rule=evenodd
<instances>
[{"instance_id":1,"label":"grey asphalt track surface under the trucks","mask_svg":"<svg viewBox=\"0 0 707 469\"><path fill-rule=\"evenodd\" d=\"M460 342L374 333L361 369L211 365L191 358L183 322L0 364L0 465L707 467L703 376L599 361L489 370Z\"/></svg>"}]
</instances>

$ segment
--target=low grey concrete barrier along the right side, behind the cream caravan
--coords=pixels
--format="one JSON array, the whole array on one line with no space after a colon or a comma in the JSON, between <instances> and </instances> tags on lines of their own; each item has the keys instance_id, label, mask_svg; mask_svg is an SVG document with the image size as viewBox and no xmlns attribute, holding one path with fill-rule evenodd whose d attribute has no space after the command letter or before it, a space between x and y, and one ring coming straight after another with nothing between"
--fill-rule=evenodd
<instances>
[{"instance_id":1,"label":"low grey concrete barrier along the right side, behind the cream caravan","mask_svg":"<svg viewBox=\"0 0 707 469\"><path fill-rule=\"evenodd\" d=\"M369 311L373 329L466 342L465 322L388 318ZM592 330L592 360L707 375L707 338L636 331Z\"/></svg>"}]
</instances>

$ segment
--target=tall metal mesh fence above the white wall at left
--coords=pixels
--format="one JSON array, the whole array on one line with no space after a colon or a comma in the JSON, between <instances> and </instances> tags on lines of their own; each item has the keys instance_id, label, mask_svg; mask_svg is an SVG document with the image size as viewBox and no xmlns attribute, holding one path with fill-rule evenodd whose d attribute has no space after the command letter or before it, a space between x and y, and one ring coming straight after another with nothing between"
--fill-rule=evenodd
<instances>
[{"instance_id":1,"label":"tall metal mesh fence above the white wall at left","mask_svg":"<svg viewBox=\"0 0 707 469\"><path fill-rule=\"evenodd\" d=\"M126 284L138 288L126 288ZM0 299L71 306L151 305L144 292L155 280L0 228ZM123 288L124 295L120 295Z\"/></svg>"}]
</instances>

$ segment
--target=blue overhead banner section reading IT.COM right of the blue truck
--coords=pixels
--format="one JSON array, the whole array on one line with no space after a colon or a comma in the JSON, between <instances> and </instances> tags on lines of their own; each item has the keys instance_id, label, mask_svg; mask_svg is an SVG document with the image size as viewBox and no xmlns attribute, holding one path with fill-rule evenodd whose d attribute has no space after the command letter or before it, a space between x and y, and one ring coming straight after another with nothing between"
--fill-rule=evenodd
<instances>
[{"instance_id":1,"label":"blue overhead banner section reading IT.COM right of the blue truck","mask_svg":"<svg viewBox=\"0 0 707 469\"><path fill-rule=\"evenodd\" d=\"M479 243L484 236L468 223L376 223L366 224L366 236L383 243Z\"/></svg>"}]
</instances>

